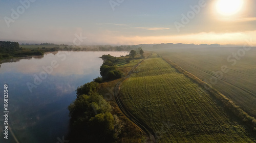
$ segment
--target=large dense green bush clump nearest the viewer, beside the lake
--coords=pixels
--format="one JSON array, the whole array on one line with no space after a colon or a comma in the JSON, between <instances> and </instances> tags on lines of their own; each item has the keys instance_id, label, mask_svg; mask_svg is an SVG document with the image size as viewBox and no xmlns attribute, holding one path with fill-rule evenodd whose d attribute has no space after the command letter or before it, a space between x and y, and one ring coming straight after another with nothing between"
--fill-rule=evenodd
<instances>
[{"instance_id":1,"label":"large dense green bush clump nearest the viewer, beside the lake","mask_svg":"<svg viewBox=\"0 0 256 143\"><path fill-rule=\"evenodd\" d=\"M99 95L99 83L89 82L77 88L77 98L69 105L70 139L74 142L116 142L123 123L112 115L113 107Z\"/></svg>"}]
</instances>

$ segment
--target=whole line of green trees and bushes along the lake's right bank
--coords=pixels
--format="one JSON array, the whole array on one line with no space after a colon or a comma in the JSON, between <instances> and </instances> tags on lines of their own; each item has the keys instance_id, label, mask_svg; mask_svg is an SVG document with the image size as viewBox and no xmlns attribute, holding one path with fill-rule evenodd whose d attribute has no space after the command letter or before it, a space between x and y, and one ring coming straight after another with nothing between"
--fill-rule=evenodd
<instances>
[{"instance_id":1,"label":"whole line of green trees and bushes along the lake's right bank","mask_svg":"<svg viewBox=\"0 0 256 143\"><path fill-rule=\"evenodd\" d=\"M101 77L78 87L75 101L68 106L71 118L68 140L95 143L141 142L139 129L128 119L120 117L121 111L102 96L106 95L105 81L122 77L122 72L115 66L122 59L110 54L102 55L101 58Z\"/></svg>"}]
</instances>

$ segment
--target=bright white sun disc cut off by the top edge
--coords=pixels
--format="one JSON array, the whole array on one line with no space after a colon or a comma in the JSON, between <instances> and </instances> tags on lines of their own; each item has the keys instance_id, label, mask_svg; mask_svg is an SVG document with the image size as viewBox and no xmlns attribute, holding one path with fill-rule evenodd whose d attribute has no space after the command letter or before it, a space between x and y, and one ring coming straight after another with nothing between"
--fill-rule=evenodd
<instances>
[{"instance_id":1,"label":"bright white sun disc cut off by the top edge","mask_svg":"<svg viewBox=\"0 0 256 143\"><path fill-rule=\"evenodd\" d=\"M216 8L218 13L231 16L241 11L244 0L218 0Z\"/></svg>"}]
</instances>

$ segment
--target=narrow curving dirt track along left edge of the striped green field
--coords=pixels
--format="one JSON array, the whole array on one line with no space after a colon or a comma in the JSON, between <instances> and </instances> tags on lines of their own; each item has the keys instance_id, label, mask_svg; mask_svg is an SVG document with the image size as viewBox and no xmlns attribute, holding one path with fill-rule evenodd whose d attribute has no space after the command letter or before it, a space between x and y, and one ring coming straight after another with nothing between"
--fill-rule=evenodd
<instances>
[{"instance_id":1,"label":"narrow curving dirt track along left edge of the striped green field","mask_svg":"<svg viewBox=\"0 0 256 143\"><path fill-rule=\"evenodd\" d=\"M148 55L148 56L150 56L150 55ZM148 56L145 59L148 59ZM117 82L117 84L114 88L114 96L115 96L117 105L119 106L121 111L124 113L124 115L146 133L146 135L147 135L146 143L154 143L154 142L156 142L154 130L151 129L148 125L146 125L142 121L140 121L139 119L137 119L135 116L133 116L133 114L123 104L123 101L121 98L121 92L120 92L120 87L122 85L122 82L125 79L129 78L131 76L131 74L133 73L133 70L135 68L137 68L144 60L140 61L137 65L135 65L125 78L123 78L122 80Z\"/></svg>"}]
</instances>

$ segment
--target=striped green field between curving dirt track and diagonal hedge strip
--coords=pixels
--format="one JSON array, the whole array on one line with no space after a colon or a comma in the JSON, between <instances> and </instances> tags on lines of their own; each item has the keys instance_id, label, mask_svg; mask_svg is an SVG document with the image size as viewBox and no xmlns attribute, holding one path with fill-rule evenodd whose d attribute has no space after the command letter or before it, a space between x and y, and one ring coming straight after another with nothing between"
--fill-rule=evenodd
<instances>
[{"instance_id":1,"label":"striped green field between curving dirt track and diagonal hedge strip","mask_svg":"<svg viewBox=\"0 0 256 143\"><path fill-rule=\"evenodd\" d=\"M161 58L142 62L122 83L121 93L157 142L255 142L215 98Z\"/></svg>"}]
</instances>

